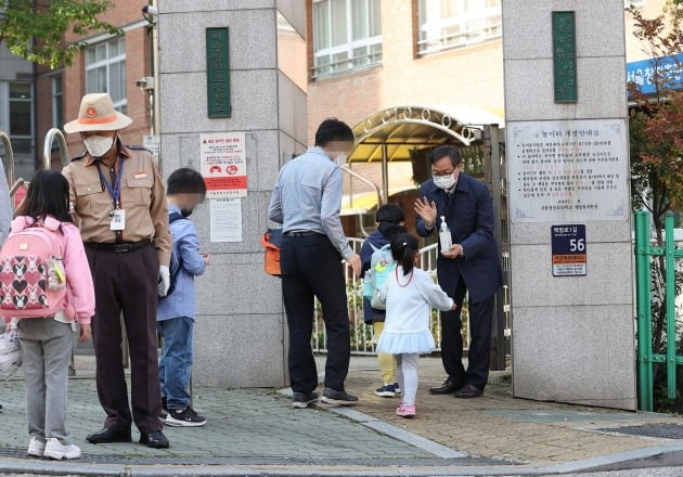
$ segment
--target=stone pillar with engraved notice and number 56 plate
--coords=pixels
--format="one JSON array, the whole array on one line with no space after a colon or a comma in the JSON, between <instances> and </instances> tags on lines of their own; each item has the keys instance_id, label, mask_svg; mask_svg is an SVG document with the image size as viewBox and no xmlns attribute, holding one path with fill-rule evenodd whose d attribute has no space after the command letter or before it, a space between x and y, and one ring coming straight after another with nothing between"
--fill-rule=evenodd
<instances>
[{"instance_id":1,"label":"stone pillar with engraved notice and number 56 plate","mask_svg":"<svg viewBox=\"0 0 683 477\"><path fill-rule=\"evenodd\" d=\"M503 31L514 395L634 410L623 1L504 0Z\"/></svg>"}]
</instances>

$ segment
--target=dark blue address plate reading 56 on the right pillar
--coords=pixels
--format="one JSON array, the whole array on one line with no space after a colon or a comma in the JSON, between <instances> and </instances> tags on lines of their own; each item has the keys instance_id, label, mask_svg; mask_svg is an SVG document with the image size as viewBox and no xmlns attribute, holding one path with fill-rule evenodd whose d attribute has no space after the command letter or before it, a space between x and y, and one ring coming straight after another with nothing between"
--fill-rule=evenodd
<instances>
[{"instance_id":1,"label":"dark blue address plate reading 56 on the right pillar","mask_svg":"<svg viewBox=\"0 0 683 477\"><path fill-rule=\"evenodd\" d=\"M553 276L585 275L588 252L584 224L551 227L551 243Z\"/></svg>"}]
</instances>

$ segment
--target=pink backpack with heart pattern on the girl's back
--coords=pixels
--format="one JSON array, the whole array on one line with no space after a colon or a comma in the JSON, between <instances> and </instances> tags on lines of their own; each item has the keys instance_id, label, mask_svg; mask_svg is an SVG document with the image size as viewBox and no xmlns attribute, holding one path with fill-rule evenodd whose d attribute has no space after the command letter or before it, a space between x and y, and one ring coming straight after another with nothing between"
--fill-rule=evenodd
<instances>
[{"instance_id":1,"label":"pink backpack with heart pattern on the girl's back","mask_svg":"<svg viewBox=\"0 0 683 477\"><path fill-rule=\"evenodd\" d=\"M0 249L0 315L53 317L64 308L66 275L59 222L10 235Z\"/></svg>"}]
</instances>

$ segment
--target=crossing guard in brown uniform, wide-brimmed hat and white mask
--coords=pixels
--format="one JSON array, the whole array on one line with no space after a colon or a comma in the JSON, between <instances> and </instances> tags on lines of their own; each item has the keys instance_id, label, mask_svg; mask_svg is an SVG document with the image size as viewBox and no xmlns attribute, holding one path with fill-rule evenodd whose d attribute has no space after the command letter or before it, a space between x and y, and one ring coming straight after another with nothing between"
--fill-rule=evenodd
<instances>
[{"instance_id":1,"label":"crossing guard in brown uniform, wide-brimmed hat and white mask","mask_svg":"<svg viewBox=\"0 0 683 477\"><path fill-rule=\"evenodd\" d=\"M118 131L132 120L115 111L108 94L87 94L78 119L64 126L80 132L87 152L64 170L95 285L93 341L104 428L91 443L131 440L166 448L162 409L156 306L168 289L171 235L166 192L157 159L140 146L126 146ZM131 362L131 407L124 374L121 325Z\"/></svg>"}]
</instances>

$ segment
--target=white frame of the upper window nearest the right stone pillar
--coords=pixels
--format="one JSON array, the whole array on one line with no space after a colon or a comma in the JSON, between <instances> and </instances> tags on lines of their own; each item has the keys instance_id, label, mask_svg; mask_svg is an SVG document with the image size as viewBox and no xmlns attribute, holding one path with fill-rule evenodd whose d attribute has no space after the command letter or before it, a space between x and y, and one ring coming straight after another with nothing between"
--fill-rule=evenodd
<instances>
[{"instance_id":1,"label":"white frame of the upper window nearest the right stone pillar","mask_svg":"<svg viewBox=\"0 0 683 477\"><path fill-rule=\"evenodd\" d=\"M502 3L499 1L498 7L477 8L475 11L466 12L465 8L467 0L455 0L458 2L458 11L465 12L458 16L441 16L437 21L426 20L426 2L428 0L417 1L417 55L426 56L442 51L453 50L458 48L469 47L473 44L479 44L487 41L502 38L503 34L503 15ZM498 16L498 21L492 20ZM482 26L478 29L467 29L467 23L482 22ZM427 27L428 25L428 27ZM443 34L443 30L449 27L460 26L458 34ZM489 31L487 34L487 31ZM494 33L490 33L494 31ZM428 37L428 33L437 33L434 38ZM459 42L453 42L451 39L464 37ZM473 38L469 38L473 37ZM430 46L437 43L436 47Z\"/></svg>"}]
</instances>

